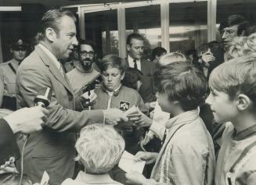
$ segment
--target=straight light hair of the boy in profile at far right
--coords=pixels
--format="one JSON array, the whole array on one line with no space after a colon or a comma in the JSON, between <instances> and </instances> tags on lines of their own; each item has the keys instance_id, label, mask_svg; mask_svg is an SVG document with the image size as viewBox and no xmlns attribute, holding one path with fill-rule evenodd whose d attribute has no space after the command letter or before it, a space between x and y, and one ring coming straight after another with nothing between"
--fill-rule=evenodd
<instances>
[{"instance_id":1,"label":"straight light hair of the boy in profile at far right","mask_svg":"<svg viewBox=\"0 0 256 185\"><path fill-rule=\"evenodd\" d=\"M211 89L229 94L247 95L256 105L256 56L248 55L229 60L216 67L210 75Z\"/></svg>"}]
</instances>

